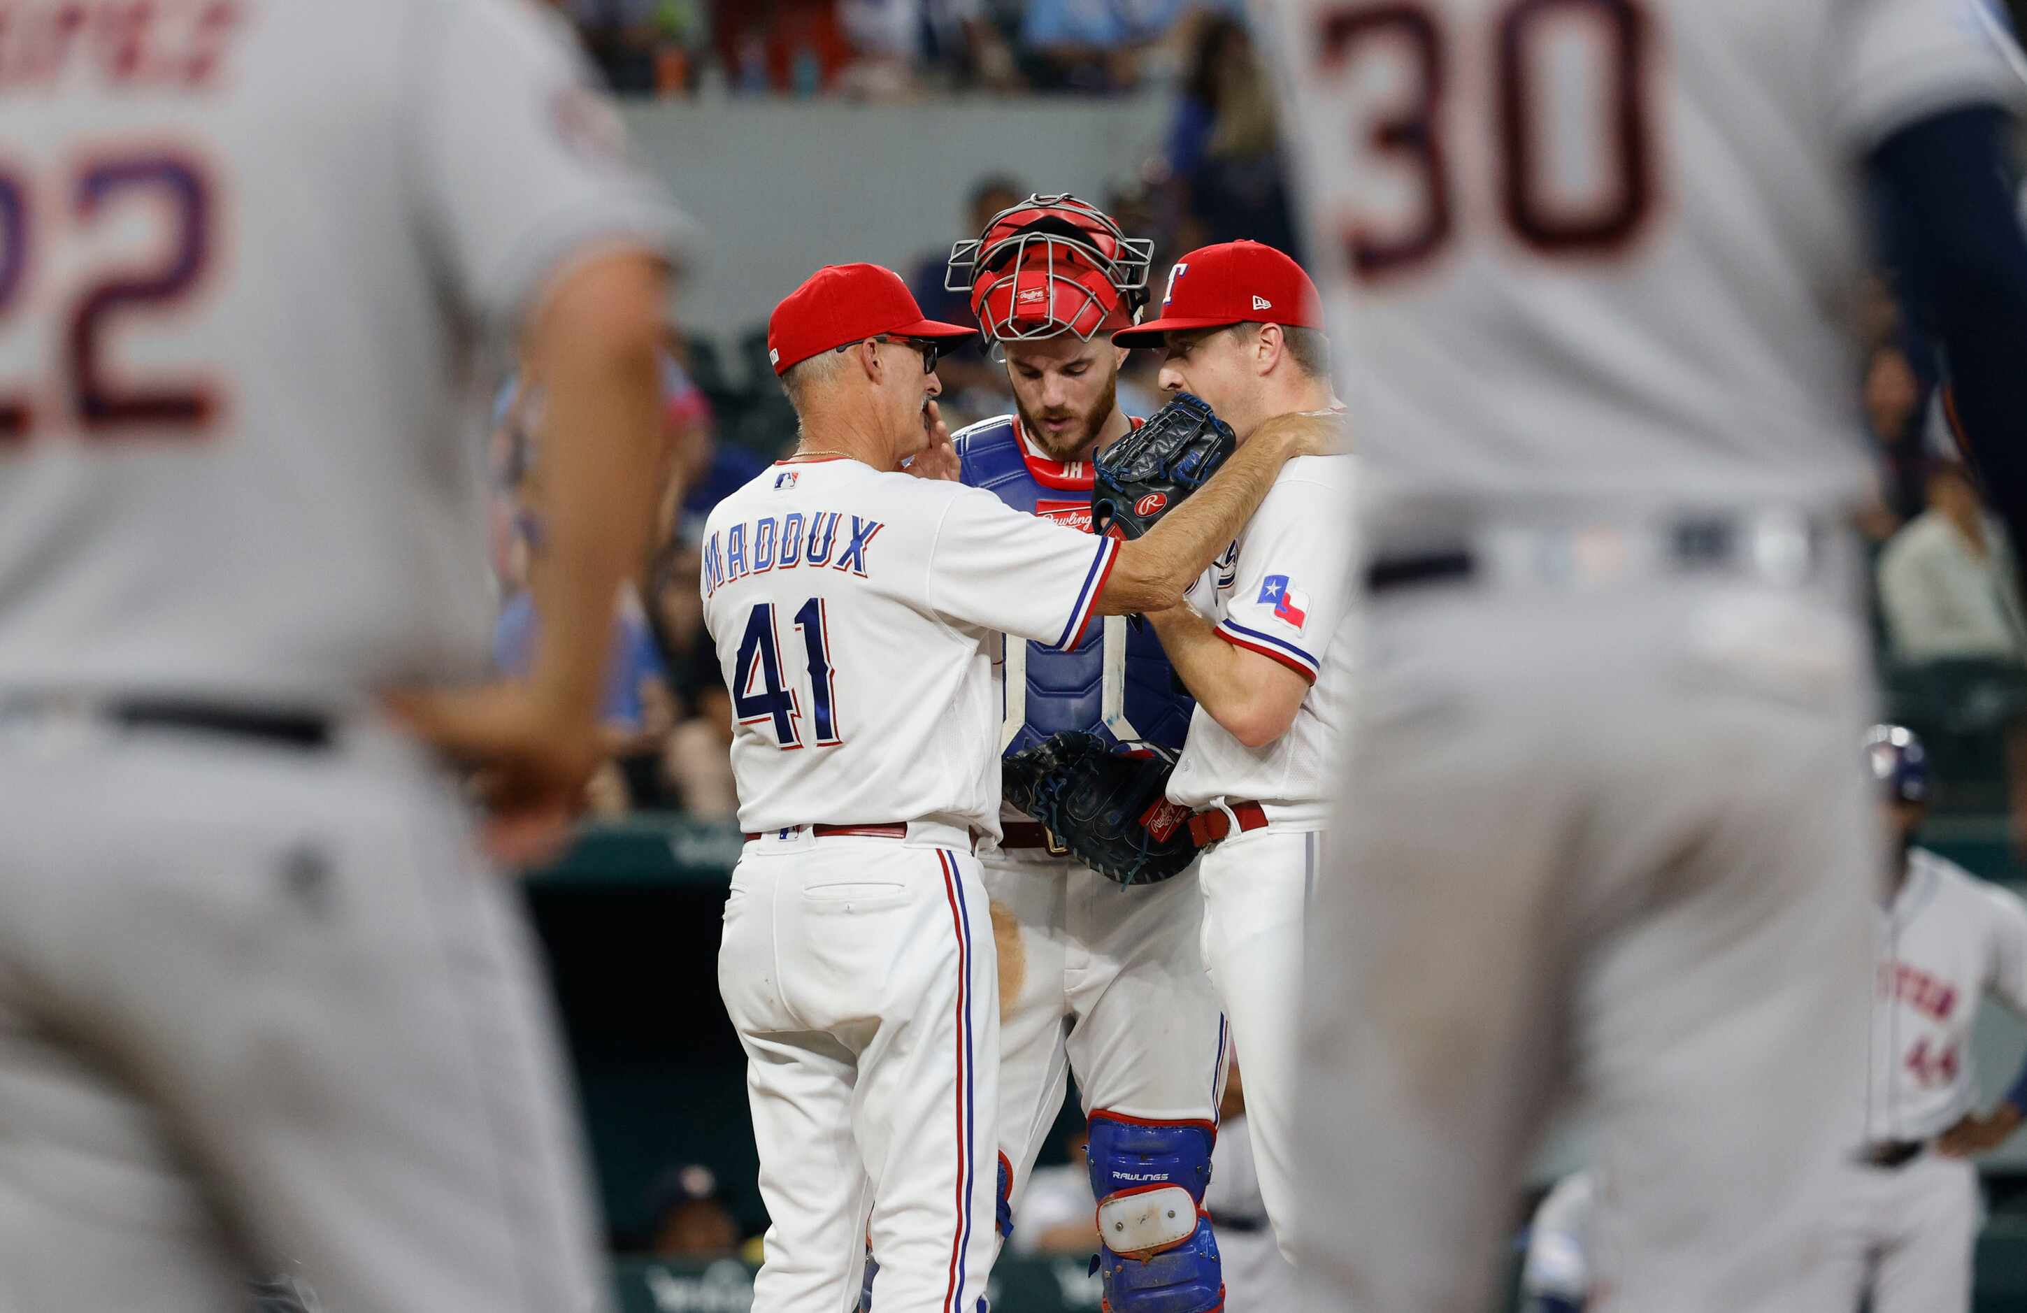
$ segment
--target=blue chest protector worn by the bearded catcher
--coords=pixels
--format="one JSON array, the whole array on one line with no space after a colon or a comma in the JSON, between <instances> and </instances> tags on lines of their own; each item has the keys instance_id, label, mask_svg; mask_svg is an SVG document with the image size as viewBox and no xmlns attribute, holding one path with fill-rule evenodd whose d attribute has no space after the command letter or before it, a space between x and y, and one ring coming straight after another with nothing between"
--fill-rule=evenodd
<instances>
[{"instance_id":1,"label":"blue chest protector worn by the bearded catcher","mask_svg":"<svg viewBox=\"0 0 2027 1313\"><path fill-rule=\"evenodd\" d=\"M1091 480L1046 486L1028 466L1011 415L973 423L953 442L969 486L1028 515L1068 519L1080 509L1078 523L1091 525ZM1084 632L1074 652L1007 638L1007 719L1020 725L1007 752L1066 729L1182 752L1194 709L1151 626L1105 618Z\"/></svg>"}]
</instances>

